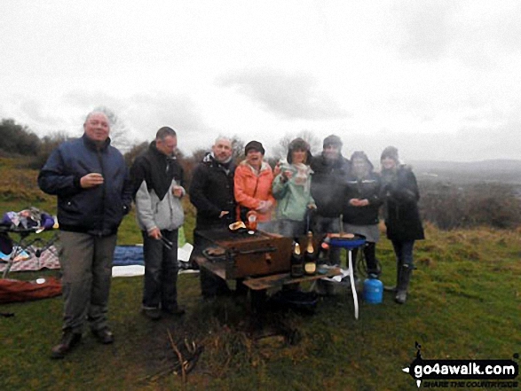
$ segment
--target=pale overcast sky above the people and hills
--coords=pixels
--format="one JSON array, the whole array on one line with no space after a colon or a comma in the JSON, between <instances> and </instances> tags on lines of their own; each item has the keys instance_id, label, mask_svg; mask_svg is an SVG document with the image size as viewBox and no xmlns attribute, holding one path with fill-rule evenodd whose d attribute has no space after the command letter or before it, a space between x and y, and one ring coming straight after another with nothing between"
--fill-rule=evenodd
<instances>
[{"instance_id":1,"label":"pale overcast sky above the people and hills","mask_svg":"<svg viewBox=\"0 0 521 391\"><path fill-rule=\"evenodd\" d=\"M1 0L0 118L78 136L96 106L186 153L309 130L348 157L521 159L521 2Z\"/></svg>"}]
</instances>

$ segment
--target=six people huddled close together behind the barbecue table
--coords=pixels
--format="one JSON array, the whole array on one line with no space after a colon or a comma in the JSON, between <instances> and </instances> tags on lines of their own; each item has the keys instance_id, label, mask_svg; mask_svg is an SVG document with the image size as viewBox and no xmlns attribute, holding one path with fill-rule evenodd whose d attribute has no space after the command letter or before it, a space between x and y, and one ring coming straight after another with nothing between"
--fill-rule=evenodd
<instances>
[{"instance_id":1,"label":"six people huddled close together behind the barbecue table","mask_svg":"<svg viewBox=\"0 0 521 391\"><path fill-rule=\"evenodd\" d=\"M209 245L200 231L246 221L247 213L253 210L260 230L291 238L302 237L306 231L363 236L367 273L379 275L376 243L383 207L387 237L397 256L395 300L405 303L414 269L414 241L423 239L415 176L411 168L399 163L393 146L382 152L381 173L375 172L365 152L353 152L350 160L344 158L342 146L340 137L328 136L320 155L313 157L310 145L296 138L288 145L287 158L272 169L264 161L263 145L250 141L244 149L245 160L235 168L231 141L218 137L212 152L195 169L190 188L190 199L197 209L194 254L201 254ZM331 248L330 264L341 264L340 251ZM222 279L201 270L201 292L212 297L229 290Z\"/></svg>"}]
</instances>

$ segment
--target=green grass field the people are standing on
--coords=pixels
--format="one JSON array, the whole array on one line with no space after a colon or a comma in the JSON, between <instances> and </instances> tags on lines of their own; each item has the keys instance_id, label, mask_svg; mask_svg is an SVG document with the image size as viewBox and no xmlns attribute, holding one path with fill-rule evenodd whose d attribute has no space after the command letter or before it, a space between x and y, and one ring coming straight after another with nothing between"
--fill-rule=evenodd
<instances>
[{"instance_id":1,"label":"green grass field the people are standing on","mask_svg":"<svg viewBox=\"0 0 521 391\"><path fill-rule=\"evenodd\" d=\"M0 188L18 177L15 169L0 161ZM24 175L26 182L36 178ZM5 211L37 205L52 213L53 199L37 189L25 191L23 199L16 194L0 193ZM190 240L193 211L187 215ZM253 332L259 319L248 301L201 301L194 274L179 276L186 316L155 323L139 313L142 278L114 278L114 344L99 345L85 333L82 345L61 361L49 358L59 340L60 297L2 305L0 312L14 317L0 317L0 389L412 390L413 379L401 369L414 359L415 341L424 359L511 359L520 353L521 230L438 231L426 224L426 234L415 249L417 270L406 305L384 293L383 304L361 302L355 320L350 294L341 292L320 298L314 315L270 312L262 319L264 336L279 333L266 338L253 338L259 336ZM129 215L120 243L139 241ZM378 244L377 255L383 282L391 285L395 267L388 240ZM177 355L170 337L176 346L186 340L203 348L185 379L173 373Z\"/></svg>"}]
</instances>

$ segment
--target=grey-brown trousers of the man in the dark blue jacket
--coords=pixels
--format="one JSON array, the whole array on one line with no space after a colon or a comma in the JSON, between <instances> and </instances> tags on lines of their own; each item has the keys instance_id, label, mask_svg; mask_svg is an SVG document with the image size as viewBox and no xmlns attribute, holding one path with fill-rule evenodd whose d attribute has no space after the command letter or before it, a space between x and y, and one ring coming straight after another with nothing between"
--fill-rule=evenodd
<instances>
[{"instance_id":1,"label":"grey-brown trousers of the man in the dark blue jacket","mask_svg":"<svg viewBox=\"0 0 521 391\"><path fill-rule=\"evenodd\" d=\"M63 273L63 329L83 332L107 327L108 295L116 235L59 232L59 264Z\"/></svg>"}]
</instances>

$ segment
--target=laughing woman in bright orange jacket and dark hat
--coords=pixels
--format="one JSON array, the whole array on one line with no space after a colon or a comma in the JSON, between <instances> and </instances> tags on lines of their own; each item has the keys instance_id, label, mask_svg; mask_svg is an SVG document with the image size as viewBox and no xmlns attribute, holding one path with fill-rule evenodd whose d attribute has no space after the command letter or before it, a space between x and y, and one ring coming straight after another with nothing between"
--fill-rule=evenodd
<instances>
[{"instance_id":1,"label":"laughing woman in bright orange jacket and dark hat","mask_svg":"<svg viewBox=\"0 0 521 391\"><path fill-rule=\"evenodd\" d=\"M246 159L235 169L234 194L238 213L246 223L249 210L257 212L257 227L269 231L275 199L272 196L273 172L264 159L264 147L258 141L250 141L244 148Z\"/></svg>"}]
</instances>

